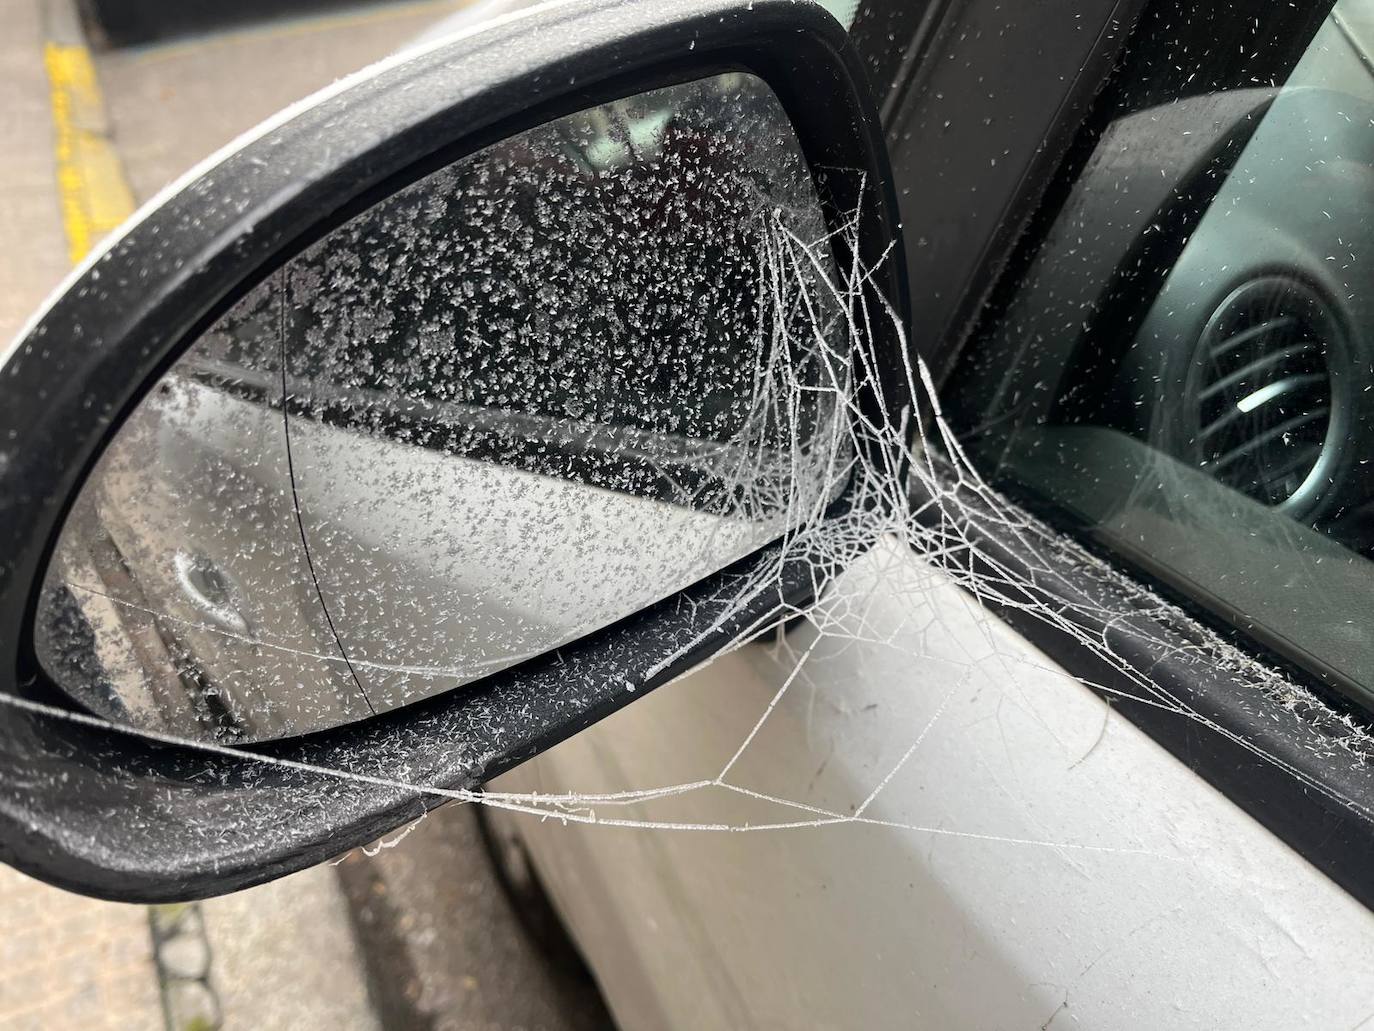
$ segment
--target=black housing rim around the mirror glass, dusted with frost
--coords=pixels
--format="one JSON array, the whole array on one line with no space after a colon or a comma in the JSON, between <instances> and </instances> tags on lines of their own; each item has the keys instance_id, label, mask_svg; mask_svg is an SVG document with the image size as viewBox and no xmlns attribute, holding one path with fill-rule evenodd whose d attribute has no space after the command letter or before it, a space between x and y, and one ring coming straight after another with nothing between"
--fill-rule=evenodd
<instances>
[{"instance_id":1,"label":"black housing rim around the mirror glass, dusted with frost","mask_svg":"<svg viewBox=\"0 0 1374 1031\"><path fill-rule=\"evenodd\" d=\"M192 748L78 712L32 643L37 586L104 444L247 290L464 154L598 103L734 70L778 96L812 175L826 180L827 217L863 212L849 238L857 253L837 261L874 269L866 289L904 326L897 208L863 71L841 26L794 0L554 3L400 55L192 172L73 274L0 377L0 859L136 902L271 880L467 797L815 595L826 570L802 555L760 581L753 573L778 557L765 548L556 654L251 751ZM894 337L868 344L890 359L878 375L900 392Z\"/></svg>"}]
</instances>

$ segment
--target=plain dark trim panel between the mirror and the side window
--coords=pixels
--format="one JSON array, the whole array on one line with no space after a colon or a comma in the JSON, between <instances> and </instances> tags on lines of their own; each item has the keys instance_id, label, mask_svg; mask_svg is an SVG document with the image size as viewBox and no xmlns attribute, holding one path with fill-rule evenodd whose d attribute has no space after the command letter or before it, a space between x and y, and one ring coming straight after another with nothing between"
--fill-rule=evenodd
<instances>
[{"instance_id":1,"label":"plain dark trim panel between the mirror and the side window","mask_svg":"<svg viewBox=\"0 0 1374 1031\"><path fill-rule=\"evenodd\" d=\"M937 382L1059 173L1145 3L929 0L930 21L901 66L883 121L905 227L911 340Z\"/></svg>"}]
</instances>

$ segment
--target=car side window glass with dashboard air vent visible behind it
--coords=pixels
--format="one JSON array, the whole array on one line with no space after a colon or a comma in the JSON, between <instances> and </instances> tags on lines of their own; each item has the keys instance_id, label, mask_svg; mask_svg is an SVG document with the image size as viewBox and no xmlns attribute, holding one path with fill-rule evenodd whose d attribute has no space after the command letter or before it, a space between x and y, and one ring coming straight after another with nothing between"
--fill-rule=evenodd
<instances>
[{"instance_id":1,"label":"car side window glass with dashboard air vent visible behind it","mask_svg":"<svg viewBox=\"0 0 1374 1031\"><path fill-rule=\"evenodd\" d=\"M1370 702L1374 3L1278 7L1142 44L947 400L1000 487Z\"/></svg>"}]
</instances>

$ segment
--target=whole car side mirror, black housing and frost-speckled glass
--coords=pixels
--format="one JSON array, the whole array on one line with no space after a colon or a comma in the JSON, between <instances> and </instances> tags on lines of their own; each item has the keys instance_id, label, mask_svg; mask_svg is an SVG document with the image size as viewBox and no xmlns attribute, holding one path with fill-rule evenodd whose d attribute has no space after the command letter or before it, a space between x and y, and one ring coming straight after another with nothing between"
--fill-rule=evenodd
<instances>
[{"instance_id":1,"label":"whole car side mirror, black housing and frost-speckled glass","mask_svg":"<svg viewBox=\"0 0 1374 1031\"><path fill-rule=\"evenodd\" d=\"M5 359L0 856L231 891L758 632L910 407L904 282L809 3L544 4L284 111Z\"/></svg>"}]
</instances>

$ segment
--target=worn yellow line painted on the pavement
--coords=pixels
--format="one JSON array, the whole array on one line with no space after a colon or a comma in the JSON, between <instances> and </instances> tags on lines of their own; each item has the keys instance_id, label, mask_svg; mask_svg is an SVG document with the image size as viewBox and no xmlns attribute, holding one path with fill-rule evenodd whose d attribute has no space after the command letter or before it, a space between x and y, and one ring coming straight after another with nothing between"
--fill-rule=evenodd
<instances>
[{"instance_id":1,"label":"worn yellow line painted on the pavement","mask_svg":"<svg viewBox=\"0 0 1374 1031\"><path fill-rule=\"evenodd\" d=\"M48 43L54 155L67 253L77 264L133 212L133 194L106 131L104 100L85 47Z\"/></svg>"}]
</instances>

